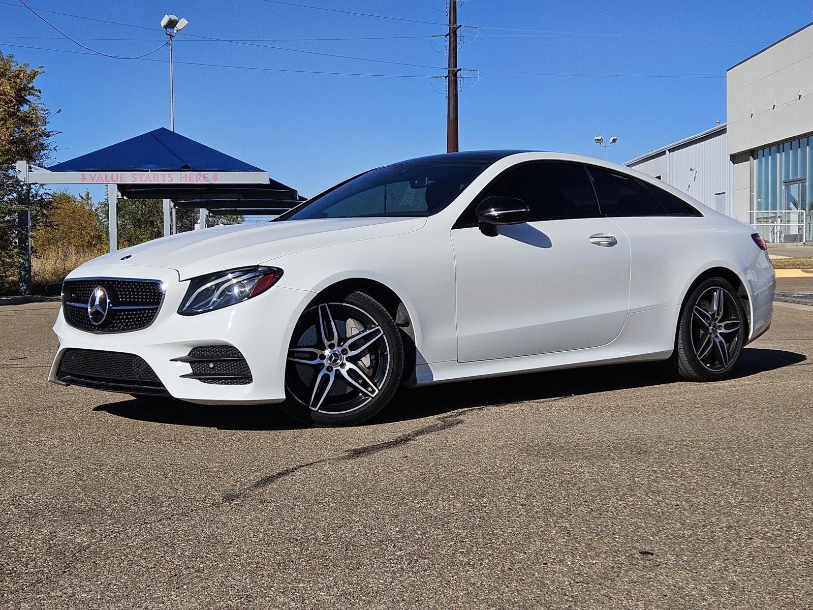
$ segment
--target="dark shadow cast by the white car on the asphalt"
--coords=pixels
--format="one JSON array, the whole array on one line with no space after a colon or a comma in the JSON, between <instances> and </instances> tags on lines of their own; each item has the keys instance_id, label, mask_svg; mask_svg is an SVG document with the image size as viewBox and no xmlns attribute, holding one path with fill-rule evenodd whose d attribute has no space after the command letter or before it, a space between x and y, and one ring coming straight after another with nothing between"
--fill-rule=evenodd
<instances>
[{"instance_id":1,"label":"dark shadow cast by the white car on the asphalt","mask_svg":"<svg viewBox=\"0 0 813 610\"><path fill-rule=\"evenodd\" d=\"M793 366L806 355L793 351L746 347L732 379ZM613 364L545 373L525 373L475 381L403 390L369 424L418 420L473 407L524 403L567 396L662 386L678 380L663 363ZM137 399L101 404L93 411L156 424L189 425L230 430L281 430L305 426L285 416L274 405L219 406L182 403L173 399Z\"/></svg>"}]
</instances>

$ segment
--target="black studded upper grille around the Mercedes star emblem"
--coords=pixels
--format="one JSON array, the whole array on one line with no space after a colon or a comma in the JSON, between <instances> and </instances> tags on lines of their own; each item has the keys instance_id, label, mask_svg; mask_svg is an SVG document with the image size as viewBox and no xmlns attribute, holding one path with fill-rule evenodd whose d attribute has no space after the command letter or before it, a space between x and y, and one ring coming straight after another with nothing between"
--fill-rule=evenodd
<instances>
[{"instance_id":1,"label":"black studded upper grille around the Mercedes star emblem","mask_svg":"<svg viewBox=\"0 0 813 610\"><path fill-rule=\"evenodd\" d=\"M101 324L94 325L88 313L91 294L98 286L107 290L109 310ZM159 280L120 280L90 277L63 284L62 309L65 320L89 333L127 333L152 324L163 300Z\"/></svg>"}]
</instances>

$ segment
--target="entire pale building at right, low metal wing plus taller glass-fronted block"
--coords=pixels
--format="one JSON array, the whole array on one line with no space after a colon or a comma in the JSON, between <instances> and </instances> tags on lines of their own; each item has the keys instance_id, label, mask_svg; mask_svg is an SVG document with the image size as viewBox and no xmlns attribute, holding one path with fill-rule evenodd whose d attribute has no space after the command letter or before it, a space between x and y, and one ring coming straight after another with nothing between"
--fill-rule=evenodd
<instances>
[{"instance_id":1,"label":"entire pale building at right, low metal wing plus taller glass-fronted block","mask_svg":"<svg viewBox=\"0 0 813 610\"><path fill-rule=\"evenodd\" d=\"M728 123L626 163L752 224L813 241L813 24L728 69Z\"/></svg>"}]
</instances>

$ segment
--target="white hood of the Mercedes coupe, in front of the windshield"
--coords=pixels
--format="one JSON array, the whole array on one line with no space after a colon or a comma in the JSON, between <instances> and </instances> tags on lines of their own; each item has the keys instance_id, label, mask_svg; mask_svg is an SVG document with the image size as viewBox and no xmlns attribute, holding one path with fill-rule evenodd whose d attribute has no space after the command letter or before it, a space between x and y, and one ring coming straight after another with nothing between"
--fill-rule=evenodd
<instances>
[{"instance_id":1,"label":"white hood of the Mercedes coupe, in front of the windshield","mask_svg":"<svg viewBox=\"0 0 813 610\"><path fill-rule=\"evenodd\" d=\"M175 269L181 280L261 264L294 252L410 233L425 218L336 218L233 224L177 233L111 252L76 268L69 277L139 277L138 267Z\"/></svg>"}]
</instances>

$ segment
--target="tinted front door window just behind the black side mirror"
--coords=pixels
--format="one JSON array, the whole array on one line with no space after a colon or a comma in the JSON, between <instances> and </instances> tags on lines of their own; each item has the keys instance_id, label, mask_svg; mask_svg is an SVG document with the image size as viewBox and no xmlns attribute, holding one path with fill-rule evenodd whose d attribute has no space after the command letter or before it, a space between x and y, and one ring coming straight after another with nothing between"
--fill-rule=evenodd
<instances>
[{"instance_id":1,"label":"tinted front door window just behind the black side mirror","mask_svg":"<svg viewBox=\"0 0 813 610\"><path fill-rule=\"evenodd\" d=\"M502 196L524 199L531 220L601 216L587 170L575 163L526 163L511 168L486 187L477 201ZM476 221L473 217L470 220Z\"/></svg>"}]
</instances>

